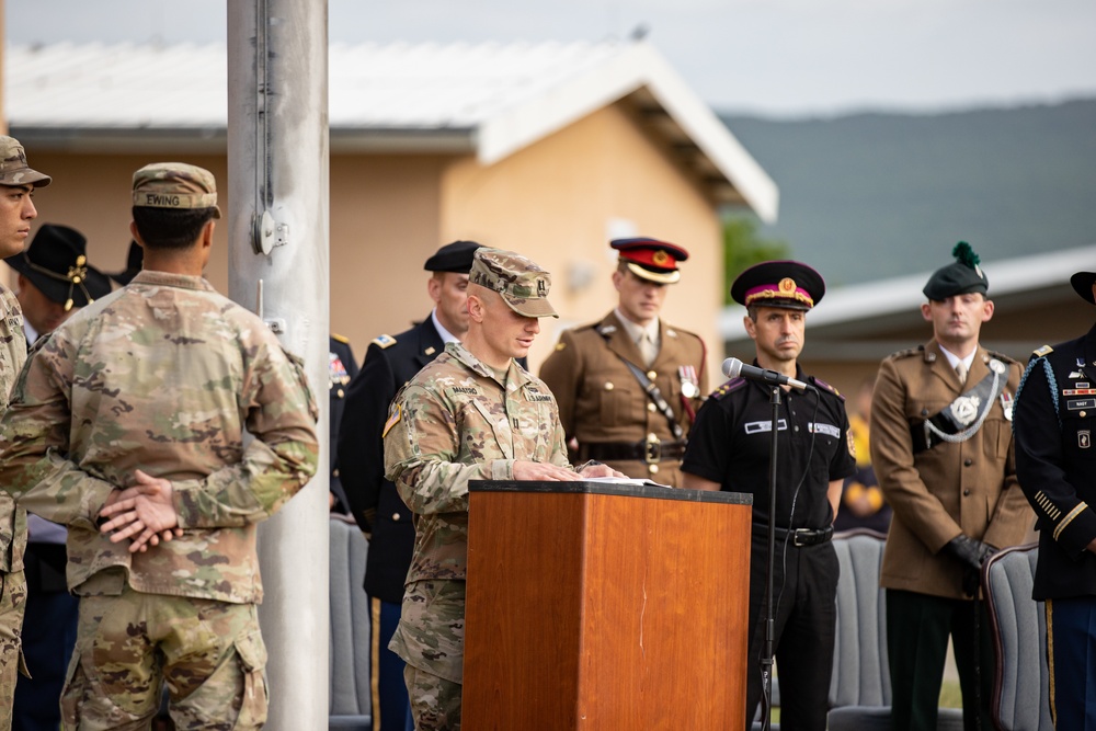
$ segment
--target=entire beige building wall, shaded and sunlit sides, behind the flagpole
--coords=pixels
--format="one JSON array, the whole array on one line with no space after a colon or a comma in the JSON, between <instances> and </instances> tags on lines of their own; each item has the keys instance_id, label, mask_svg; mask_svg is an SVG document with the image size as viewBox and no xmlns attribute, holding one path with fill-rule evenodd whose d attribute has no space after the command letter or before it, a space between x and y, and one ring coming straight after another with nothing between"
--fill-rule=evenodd
<instances>
[{"instance_id":1,"label":"entire beige building wall, shaded and sunlit sides, behind the flagpole","mask_svg":"<svg viewBox=\"0 0 1096 731\"><path fill-rule=\"evenodd\" d=\"M89 260L104 272L125 266L130 181L141 165L179 159L208 168L217 176L221 210L227 215L231 206L222 155L77 155L32 147L27 157L54 178L35 194L35 230L43 222L79 229L88 237ZM562 317L543 321L530 354L536 370L560 328L598 319L615 305L616 252L608 240L635 233L688 249L665 318L705 339L710 381L721 379L718 215L624 105L603 108L490 167L471 156L347 153L332 156L330 175L331 329L351 340L358 358L378 334L401 332L429 313L423 262L443 243L475 239L525 253L553 274L551 299ZM217 228L206 271L226 294L227 230Z\"/></svg>"}]
</instances>

